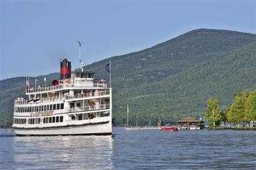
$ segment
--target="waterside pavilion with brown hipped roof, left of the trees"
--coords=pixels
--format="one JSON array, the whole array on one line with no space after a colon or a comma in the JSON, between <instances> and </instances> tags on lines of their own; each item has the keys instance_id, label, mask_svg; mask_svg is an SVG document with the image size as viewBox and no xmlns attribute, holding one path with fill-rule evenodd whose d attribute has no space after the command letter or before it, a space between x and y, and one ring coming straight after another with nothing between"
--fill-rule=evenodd
<instances>
[{"instance_id":1,"label":"waterside pavilion with brown hipped roof, left of the trees","mask_svg":"<svg viewBox=\"0 0 256 170\"><path fill-rule=\"evenodd\" d=\"M196 129L203 128L203 121L199 121L193 117L182 118L180 121L176 121L176 126L180 129L190 129L191 125L196 125Z\"/></svg>"}]
</instances>

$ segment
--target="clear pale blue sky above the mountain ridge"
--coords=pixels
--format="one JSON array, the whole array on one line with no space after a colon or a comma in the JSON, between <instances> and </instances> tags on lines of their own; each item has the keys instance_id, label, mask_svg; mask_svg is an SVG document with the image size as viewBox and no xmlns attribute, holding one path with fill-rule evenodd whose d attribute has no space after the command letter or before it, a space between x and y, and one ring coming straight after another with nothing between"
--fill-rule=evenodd
<instances>
[{"instance_id":1,"label":"clear pale blue sky above the mountain ridge","mask_svg":"<svg viewBox=\"0 0 256 170\"><path fill-rule=\"evenodd\" d=\"M255 33L255 1L0 0L0 80L59 72L200 28Z\"/></svg>"}]
</instances>

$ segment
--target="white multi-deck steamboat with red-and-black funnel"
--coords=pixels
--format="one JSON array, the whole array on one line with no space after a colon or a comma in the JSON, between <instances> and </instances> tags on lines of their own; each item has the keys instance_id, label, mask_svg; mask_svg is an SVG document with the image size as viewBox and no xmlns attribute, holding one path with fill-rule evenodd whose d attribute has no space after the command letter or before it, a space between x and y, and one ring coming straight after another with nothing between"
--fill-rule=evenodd
<instances>
[{"instance_id":1,"label":"white multi-deck steamboat with red-and-black funnel","mask_svg":"<svg viewBox=\"0 0 256 170\"><path fill-rule=\"evenodd\" d=\"M80 68L71 72L71 62L64 59L52 86L32 88L26 80L28 100L18 97L14 105L17 136L112 134L112 89L83 67L80 60ZM111 73L110 63L105 68Z\"/></svg>"}]
</instances>

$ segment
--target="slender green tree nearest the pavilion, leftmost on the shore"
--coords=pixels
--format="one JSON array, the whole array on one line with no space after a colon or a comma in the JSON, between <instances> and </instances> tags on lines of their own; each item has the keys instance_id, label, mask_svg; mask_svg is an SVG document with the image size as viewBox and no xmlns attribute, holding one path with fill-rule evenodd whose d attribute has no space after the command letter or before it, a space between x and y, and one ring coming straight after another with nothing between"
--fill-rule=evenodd
<instances>
[{"instance_id":1,"label":"slender green tree nearest the pavilion, leftmost on the shore","mask_svg":"<svg viewBox=\"0 0 256 170\"><path fill-rule=\"evenodd\" d=\"M210 97L207 100L207 109L205 117L207 121L213 122L213 126L215 128L215 122L219 121L221 118L220 109L219 109L219 102L217 98Z\"/></svg>"}]
</instances>

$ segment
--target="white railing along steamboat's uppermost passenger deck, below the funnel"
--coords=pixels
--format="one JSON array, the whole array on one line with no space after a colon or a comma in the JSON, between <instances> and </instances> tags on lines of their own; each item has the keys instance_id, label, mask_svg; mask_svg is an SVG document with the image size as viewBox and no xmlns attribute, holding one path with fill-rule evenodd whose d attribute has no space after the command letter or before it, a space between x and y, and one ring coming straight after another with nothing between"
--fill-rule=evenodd
<instances>
[{"instance_id":1,"label":"white railing along steamboat's uppermost passenger deck, below the funnel","mask_svg":"<svg viewBox=\"0 0 256 170\"><path fill-rule=\"evenodd\" d=\"M64 89L64 88L74 88L76 87L76 84L59 84L57 86L49 86L49 87L42 87L42 88L36 88L36 89L26 89L26 93L40 93L40 92L45 92L45 91L50 91L50 90L59 90L59 89ZM77 86L78 88L83 87L83 86ZM84 86L85 88L88 86ZM100 83L93 83L93 87L97 88L106 88L106 84L100 84Z\"/></svg>"}]
</instances>

